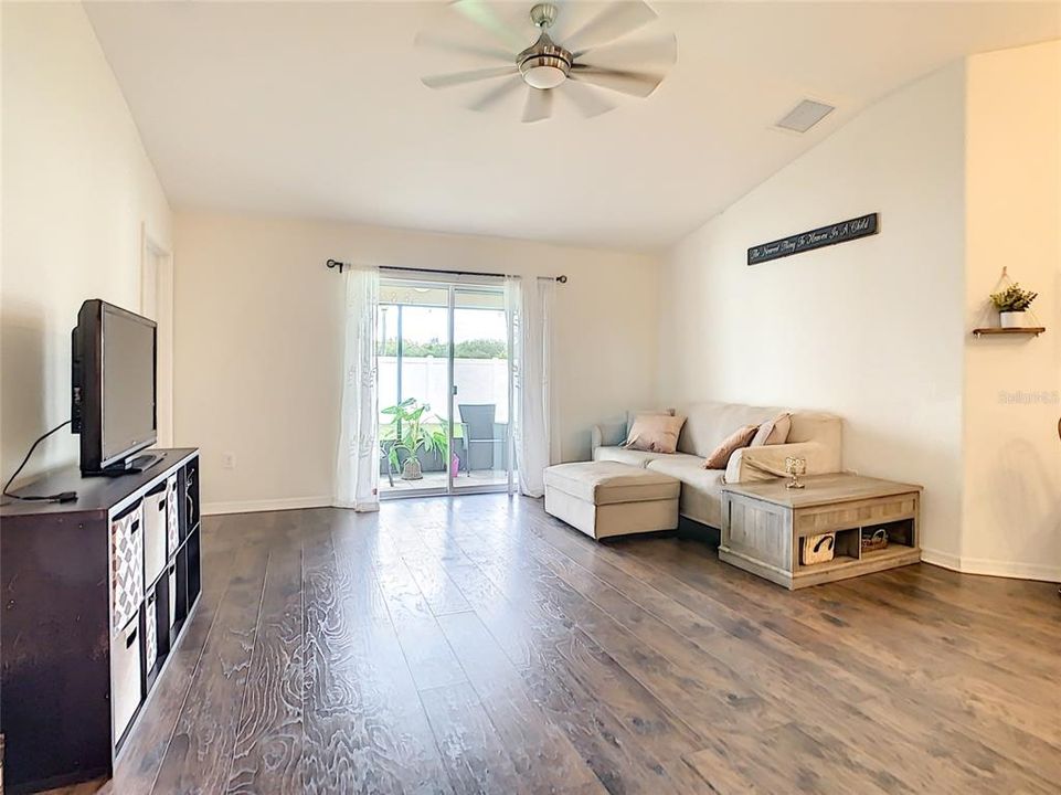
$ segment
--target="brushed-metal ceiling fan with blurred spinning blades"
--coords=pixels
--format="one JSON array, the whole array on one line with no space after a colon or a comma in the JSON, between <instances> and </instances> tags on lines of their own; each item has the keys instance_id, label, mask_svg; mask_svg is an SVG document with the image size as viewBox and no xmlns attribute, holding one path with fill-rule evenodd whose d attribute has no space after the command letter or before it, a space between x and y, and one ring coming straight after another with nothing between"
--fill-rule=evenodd
<instances>
[{"instance_id":1,"label":"brushed-metal ceiling fan with blurred spinning blades","mask_svg":"<svg viewBox=\"0 0 1061 795\"><path fill-rule=\"evenodd\" d=\"M530 19L539 34L530 46L526 46L524 34L500 19L482 0L456 0L450 7L505 49L421 33L416 43L422 46L498 62L496 66L428 75L422 78L424 85L449 88L478 82L496 83L470 105L474 110L487 110L526 88L524 123L552 116L556 93L570 99L587 117L615 107L598 88L647 97L677 60L678 42L672 33L649 40L619 41L657 18L656 12L640 0L620 0L605 6L567 35L559 35L554 30L561 8L554 3L538 3L531 8ZM553 40L551 30L562 44ZM648 68L629 68L629 64L648 65Z\"/></svg>"}]
</instances>

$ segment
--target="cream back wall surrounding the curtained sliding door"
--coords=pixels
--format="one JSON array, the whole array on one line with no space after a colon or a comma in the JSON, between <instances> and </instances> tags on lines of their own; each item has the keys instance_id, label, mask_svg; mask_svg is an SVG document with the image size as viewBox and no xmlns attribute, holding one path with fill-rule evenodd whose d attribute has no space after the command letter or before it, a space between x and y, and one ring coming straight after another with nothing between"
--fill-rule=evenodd
<instances>
[{"instance_id":1,"label":"cream back wall surrounding the curtained sliding door","mask_svg":"<svg viewBox=\"0 0 1061 795\"><path fill-rule=\"evenodd\" d=\"M213 510L317 505L332 494L341 286L329 257L400 267L566 274L558 286L560 455L654 392L651 257L343 223L177 216L176 438L203 451ZM223 469L222 456L235 456Z\"/></svg>"}]
</instances>

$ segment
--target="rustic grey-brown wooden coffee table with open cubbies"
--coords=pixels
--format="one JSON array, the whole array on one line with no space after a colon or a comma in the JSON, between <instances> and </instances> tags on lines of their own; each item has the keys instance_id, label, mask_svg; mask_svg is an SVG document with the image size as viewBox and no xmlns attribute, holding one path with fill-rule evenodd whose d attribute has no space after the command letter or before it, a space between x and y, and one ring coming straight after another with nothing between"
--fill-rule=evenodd
<instances>
[{"instance_id":1,"label":"rustic grey-brown wooden coffee table with open cubbies","mask_svg":"<svg viewBox=\"0 0 1061 795\"><path fill-rule=\"evenodd\" d=\"M921 486L842 474L803 478L803 489L786 483L722 487L721 560L792 590L921 560ZM881 528L888 547L862 551L862 530ZM805 564L802 539L830 532L834 559Z\"/></svg>"}]
</instances>

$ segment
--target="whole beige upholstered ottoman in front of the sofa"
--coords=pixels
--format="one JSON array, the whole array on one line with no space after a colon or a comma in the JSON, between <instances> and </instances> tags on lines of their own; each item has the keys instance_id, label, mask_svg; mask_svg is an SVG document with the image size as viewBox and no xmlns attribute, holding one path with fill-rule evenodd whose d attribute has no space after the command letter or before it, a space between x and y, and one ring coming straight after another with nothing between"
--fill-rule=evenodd
<instances>
[{"instance_id":1,"label":"whole beige upholstered ottoman in front of the sofa","mask_svg":"<svg viewBox=\"0 0 1061 795\"><path fill-rule=\"evenodd\" d=\"M545 469L545 512L595 539L673 530L681 481L618 464L585 462Z\"/></svg>"}]
</instances>

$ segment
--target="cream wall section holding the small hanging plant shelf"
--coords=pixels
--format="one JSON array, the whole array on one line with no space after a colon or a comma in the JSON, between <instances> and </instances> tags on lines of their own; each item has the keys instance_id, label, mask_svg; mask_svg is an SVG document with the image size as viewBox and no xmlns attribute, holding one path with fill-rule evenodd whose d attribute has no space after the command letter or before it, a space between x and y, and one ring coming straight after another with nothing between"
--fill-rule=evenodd
<instances>
[{"instance_id":1,"label":"cream wall section holding the small hanging plant shelf","mask_svg":"<svg viewBox=\"0 0 1061 795\"><path fill-rule=\"evenodd\" d=\"M1048 331L966 336L958 564L1061 580L1061 43L969 59L967 92L966 325L1008 265Z\"/></svg>"}]
</instances>

